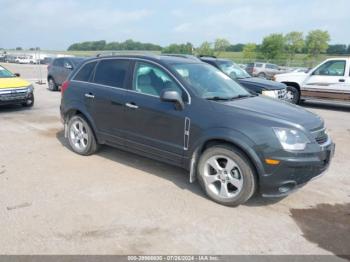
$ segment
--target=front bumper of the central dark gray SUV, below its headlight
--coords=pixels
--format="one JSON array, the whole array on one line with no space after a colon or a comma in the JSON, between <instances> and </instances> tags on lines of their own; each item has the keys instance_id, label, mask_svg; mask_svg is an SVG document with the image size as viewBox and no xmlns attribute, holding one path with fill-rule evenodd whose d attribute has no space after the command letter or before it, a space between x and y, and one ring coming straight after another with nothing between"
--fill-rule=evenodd
<instances>
[{"instance_id":1,"label":"front bumper of the central dark gray SUV, below its headlight","mask_svg":"<svg viewBox=\"0 0 350 262\"><path fill-rule=\"evenodd\" d=\"M260 193L264 197L286 196L321 176L330 165L335 144L329 138L320 148L307 156L279 158L274 172L260 176Z\"/></svg>"}]
</instances>

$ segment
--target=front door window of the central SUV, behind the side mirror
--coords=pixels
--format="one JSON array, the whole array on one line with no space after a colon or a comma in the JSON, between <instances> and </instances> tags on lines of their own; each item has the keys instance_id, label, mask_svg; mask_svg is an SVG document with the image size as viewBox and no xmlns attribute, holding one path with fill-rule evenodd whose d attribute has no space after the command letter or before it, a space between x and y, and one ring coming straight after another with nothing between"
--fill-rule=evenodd
<instances>
[{"instance_id":1,"label":"front door window of the central SUV, behind the side mirror","mask_svg":"<svg viewBox=\"0 0 350 262\"><path fill-rule=\"evenodd\" d=\"M157 66L137 62L135 65L133 90L136 92L160 97L163 89L173 89L184 97L182 88Z\"/></svg>"}]
</instances>

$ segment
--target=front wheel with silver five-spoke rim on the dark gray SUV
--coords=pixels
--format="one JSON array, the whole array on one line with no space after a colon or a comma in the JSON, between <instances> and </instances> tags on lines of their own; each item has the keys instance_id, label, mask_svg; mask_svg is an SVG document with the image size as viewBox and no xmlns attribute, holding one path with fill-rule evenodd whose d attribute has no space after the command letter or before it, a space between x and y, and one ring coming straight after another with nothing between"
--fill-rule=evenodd
<instances>
[{"instance_id":1,"label":"front wheel with silver five-spoke rim on the dark gray SUV","mask_svg":"<svg viewBox=\"0 0 350 262\"><path fill-rule=\"evenodd\" d=\"M208 197L226 206L245 203L257 188L251 162L240 150L229 145L206 149L199 159L197 174Z\"/></svg>"}]
</instances>

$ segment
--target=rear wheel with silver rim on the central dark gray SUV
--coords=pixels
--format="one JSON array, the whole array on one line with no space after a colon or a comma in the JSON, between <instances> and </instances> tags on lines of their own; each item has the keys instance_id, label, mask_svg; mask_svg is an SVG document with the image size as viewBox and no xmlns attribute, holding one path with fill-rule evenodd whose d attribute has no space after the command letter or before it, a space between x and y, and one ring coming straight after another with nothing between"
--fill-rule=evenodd
<instances>
[{"instance_id":1,"label":"rear wheel with silver rim on the central dark gray SUV","mask_svg":"<svg viewBox=\"0 0 350 262\"><path fill-rule=\"evenodd\" d=\"M68 143L75 153L88 156L98 150L95 135L83 116L73 116L68 121L67 128Z\"/></svg>"}]
</instances>

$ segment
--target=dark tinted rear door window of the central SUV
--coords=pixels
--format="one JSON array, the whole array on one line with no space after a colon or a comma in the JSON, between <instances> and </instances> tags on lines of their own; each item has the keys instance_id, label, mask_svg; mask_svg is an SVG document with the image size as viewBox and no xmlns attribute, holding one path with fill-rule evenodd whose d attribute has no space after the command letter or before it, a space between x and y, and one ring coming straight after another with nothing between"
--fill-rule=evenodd
<instances>
[{"instance_id":1,"label":"dark tinted rear door window of the central SUV","mask_svg":"<svg viewBox=\"0 0 350 262\"><path fill-rule=\"evenodd\" d=\"M129 62L126 60L102 60L97 65L94 82L97 84L122 88L124 86L128 68Z\"/></svg>"}]
</instances>

